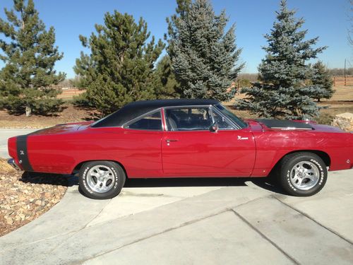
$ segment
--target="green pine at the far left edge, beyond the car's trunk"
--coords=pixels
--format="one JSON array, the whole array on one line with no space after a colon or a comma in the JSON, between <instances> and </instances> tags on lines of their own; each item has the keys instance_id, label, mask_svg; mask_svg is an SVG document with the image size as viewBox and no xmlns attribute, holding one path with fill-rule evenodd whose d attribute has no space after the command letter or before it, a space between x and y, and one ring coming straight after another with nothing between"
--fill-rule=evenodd
<instances>
[{"instance_id":1,"label":"green pine at the far left edge, beyond the car's trunk","mask_svg":"<svg viewBox=\"0 0 353 265\"><path fill-rule=\"evenodd\" d=\"M8 21L0 18L0 40L5 66L0 71L0 99L10 112L27 116L60 110L60 90L54 89L65 78L56 73L54 64L63 54L54 46L54 28L45 29L32 0L14 0L11 11L5 8Z\"/></svg>"}]
</instances>

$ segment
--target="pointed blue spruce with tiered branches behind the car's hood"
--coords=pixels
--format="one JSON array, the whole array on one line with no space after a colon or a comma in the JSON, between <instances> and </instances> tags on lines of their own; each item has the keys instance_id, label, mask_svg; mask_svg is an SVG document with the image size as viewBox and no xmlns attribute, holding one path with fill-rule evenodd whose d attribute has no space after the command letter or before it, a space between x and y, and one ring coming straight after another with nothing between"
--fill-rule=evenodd
<instances>
[{"instance_id":1,"label":"pointed blue spruce with tiered branches behind the car's hood","mask_svg":"<svg viewBox=\"0 0 353 265\"><path fill-rule=\"evenodd\" d=\"M318 37L304 40L307 30L300 30L304 19L294 17L295 11L287 8L287 1L280 1L277 21L270 34L265 35L267 52L258 71L261 83L244 88L244 100L238 100L239 109L249 110L261 117L306 119L318 114L312 96L321 88L306 86L311 78L311 68L305 64L316 58L325 47L313 48Z\"/></svg>"}]
</instances>

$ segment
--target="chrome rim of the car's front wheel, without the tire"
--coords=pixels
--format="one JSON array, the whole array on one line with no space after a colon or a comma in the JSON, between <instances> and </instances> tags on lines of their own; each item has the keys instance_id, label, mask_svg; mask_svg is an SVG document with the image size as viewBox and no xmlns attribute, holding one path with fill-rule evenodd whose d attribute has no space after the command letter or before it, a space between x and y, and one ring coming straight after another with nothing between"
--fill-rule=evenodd
<instances>
[{"instance_id":1,"label":"chrome rim of the car's front wheel, without the tire","mask_svg":"<svg viewBox=\"0 0 353 265\"><path fill-rule=\"evenodd\" d=\"M320 172L314 163L301 161L292 167L289 179L297 189L308 190L318 184Z\"/></svg>"}]
</instances>

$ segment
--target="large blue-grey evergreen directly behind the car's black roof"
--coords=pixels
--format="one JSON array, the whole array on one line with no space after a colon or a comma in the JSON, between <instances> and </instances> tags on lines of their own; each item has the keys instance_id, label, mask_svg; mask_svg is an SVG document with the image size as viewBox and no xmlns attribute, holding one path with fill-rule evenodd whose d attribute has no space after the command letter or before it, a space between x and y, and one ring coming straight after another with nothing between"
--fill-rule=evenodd
<instances>
[{"instance_id":1,"label":"large blue-grey evergreen directly behind the car's black roof","mask_svg":"<svg viewBox=\"0 0 353 265\"><path fill-rule=\"evenodd\" d=\"M215 15L208 0L178 0L177 14L167 19L172 68L185 98L231 100L229 90L243 64L235 44L235 25L225 33L225 11Z\"/></svg>"}]
</instances>

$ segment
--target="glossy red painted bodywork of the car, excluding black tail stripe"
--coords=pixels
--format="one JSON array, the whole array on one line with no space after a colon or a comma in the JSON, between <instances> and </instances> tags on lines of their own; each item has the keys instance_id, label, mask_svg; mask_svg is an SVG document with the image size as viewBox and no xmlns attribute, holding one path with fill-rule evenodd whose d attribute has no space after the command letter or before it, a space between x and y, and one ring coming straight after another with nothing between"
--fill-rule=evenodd
<instances>
[{"instance_id":1,"label":"glossy red painted bodywork of the car, excluding black tail stripe","mask_svg":"<svg viewBox=\"0 0 353 265\"><path fill-rule=\"evenodd\" d=\"M63 124L30 134L28 158L35 172L61 174L71 174L86 161L112 160L130 178L265 177L283 156L295 151L325 153L330 170L353 167L353 134L320 124L302 131L246 122L244 129L217 132ZM177 141L168 145L167 139ZM16 137L8 139L8 152L18 164Z\"/></svg>"}]
</instances>

